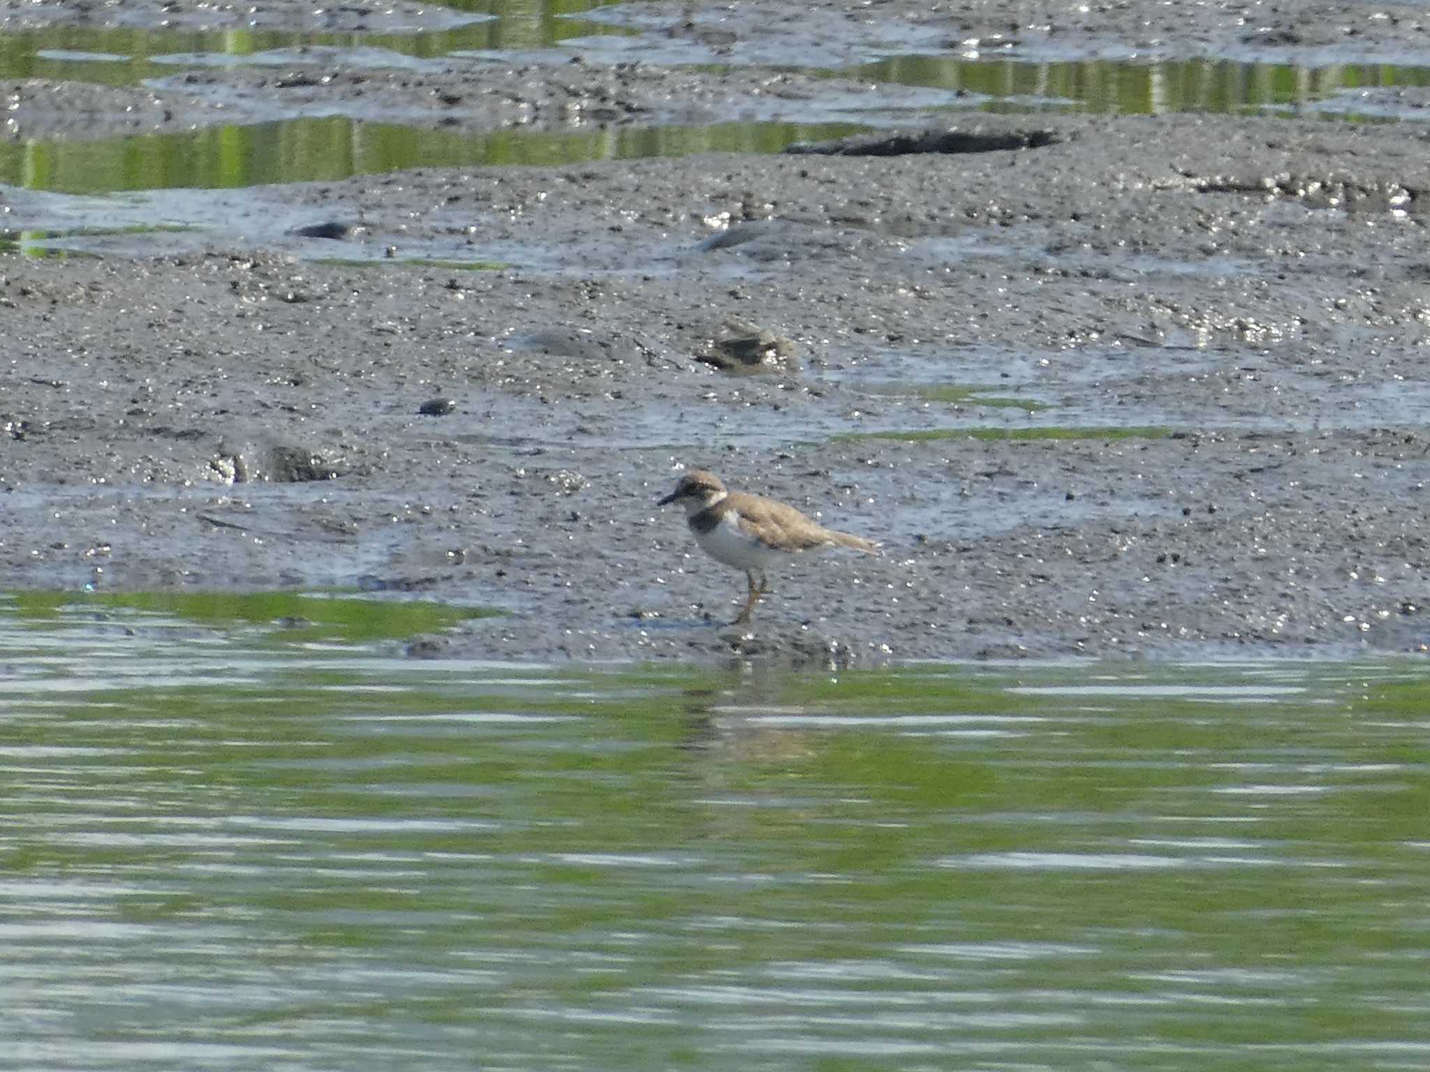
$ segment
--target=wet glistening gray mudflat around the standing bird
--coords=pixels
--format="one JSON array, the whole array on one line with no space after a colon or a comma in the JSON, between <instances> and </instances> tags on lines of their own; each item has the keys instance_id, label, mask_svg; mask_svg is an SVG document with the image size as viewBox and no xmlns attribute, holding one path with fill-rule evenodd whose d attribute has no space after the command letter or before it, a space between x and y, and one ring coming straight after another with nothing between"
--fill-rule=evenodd
<instances>
[{"instance_id":1,"label":"wet glistening gray mudflat around the standing bird","mask_svg":"<svg viewBox=\"0 0 1430 1072\"><path fill-rule=\"evenodd\" d=\"M1414 10L1291 7L1294 33L1317 27L1304 47L1430 61ZM1178 7L1181 37L1160 36L1170 9L1134 9L1153 21L1094 9L1010 47L1296 44L1230 7ZM809 6L729 10L759 17L702 47L794 34ZM827 10L819 33L849 27L859 60L875 40L998 33L992 4ZM744 93L782 76L655 77ZM89 114L94 136L114 131ZM4 583L337 586L509 612L423 655L1420 650L1426 129L951 124L990 152L425 167L119 199L0 187L17 250L0 256ZM80 226L99 213L102 233ZM19 253L49 232L89 256ZM781 570L732 629L744 579L655 505L694 465L884 553Z\"/></svg>"}]
</instances>

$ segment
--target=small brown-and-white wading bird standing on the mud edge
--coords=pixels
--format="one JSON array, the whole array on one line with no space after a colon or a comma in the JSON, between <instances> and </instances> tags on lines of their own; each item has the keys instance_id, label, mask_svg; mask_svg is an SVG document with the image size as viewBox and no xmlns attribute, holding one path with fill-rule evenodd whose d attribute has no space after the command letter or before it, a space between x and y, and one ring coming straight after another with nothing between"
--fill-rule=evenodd
<instances>
[{"instance_id":1,"label":"small brown-and-white wading bird standing on the mud edge","mask_svg":"<svg viewBox=\"0 0 1430 1072\"><path fill-rule=\"evenodd\" d=\"M701 550L716 562L745 570L749 597L732 625L748 622L755 603L769 592L765 570L772 566L782 566L797 555L825 547L879 553L877 543L825 529L794 506L761 495L729 492L715 473L704 469L694 469L682 476L675 490L659 502L661 506L666 503L685 507L685 523L695 533Z\"/></svg>"}]
</instances>

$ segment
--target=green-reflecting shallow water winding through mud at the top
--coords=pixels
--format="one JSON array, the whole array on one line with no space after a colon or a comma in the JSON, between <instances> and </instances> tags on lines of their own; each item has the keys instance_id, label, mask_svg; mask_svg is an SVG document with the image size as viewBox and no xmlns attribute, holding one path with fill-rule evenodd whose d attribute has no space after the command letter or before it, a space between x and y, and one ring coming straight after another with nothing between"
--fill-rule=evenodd
<instances>
[{"instance_id":1,"label":"green-reflecting shallow water winding through mud at the top","mask_svg":"<svg viewBox=\"0 0 1430 1072\"><path fill-rule=\"evenodd\" d=\"M326 33L182 27L84 27L0 34L0 77L74 80L103 86L153 84L186 90L183 73L212 67L323 71L440 71L453 63L588 63L739 69L738 56L706 54L698 40L672 44L664 33L632 37L626 9L591 0L522 0L460 4L468 20L428 33ZM606 17L615 10L615 16ZM644 10L644 9L642 9ZM662 27L658 11L656 29ZM644 17L644 16L642 16ZM669 16L674 19L674 14ZM676 49L695 47L686 56ZM57 193L112 193L177 187L230 189L267 183L339 180L355 174L458 164L561 164L603 159L682 156L695 152L774 153L794 142L835 137L864 127L937 123L968 110L1074 110L1114 114L1257 111L1326 114L1353 120L1423 120L1430 67L1394 63L1264 63L1227 57L1164 60L1081 57L1031 60L1004 54L919 54L885 43L874 63L841 70L808 66L791 51L762 57L784 70L854 76L911 86L940 96L914 103L887 94L834 89L794 94L778 114L706 126L659 120L606 129L472 131L392 121L360 94L313 106L313 114L250 116L197 130L103 139L24 137L0 143L0 183ZM914 51L909 53L909 49ZM1410 90L1411 96L1399 96ZM220 94L222 97L222 94ZM799 103L801 99L804 103ZM223 101L243 114L236 100ZM732 116L731 119L736 119ZM262 120L262 121L260 121ZM861 126L854 126L861 124ZM80 130L79 133L83 133ZM99 226L100 220L93 220ZM41 236L43 237L43 236ZM31 242L31 249L44 247Z\"/></svg>"}]
</instances>

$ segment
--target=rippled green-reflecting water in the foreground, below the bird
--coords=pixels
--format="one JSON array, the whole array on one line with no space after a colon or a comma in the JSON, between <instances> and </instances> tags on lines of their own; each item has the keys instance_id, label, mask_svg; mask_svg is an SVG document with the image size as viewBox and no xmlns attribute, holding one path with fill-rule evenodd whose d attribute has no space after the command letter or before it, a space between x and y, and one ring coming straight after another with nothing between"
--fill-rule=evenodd
<instances>
[{"instance_id":1,"label":"rippled green-reflecting water in the foreground, below the bird","mask_svg":"<svg viewBox=\"0 0 1430 1072\"><path fill-rule=\"evenodd\" d=\"M592 670L204 606L0 600L19 1065L1430 1062L1417 665Z\"/></svg>"}]
</instances>

